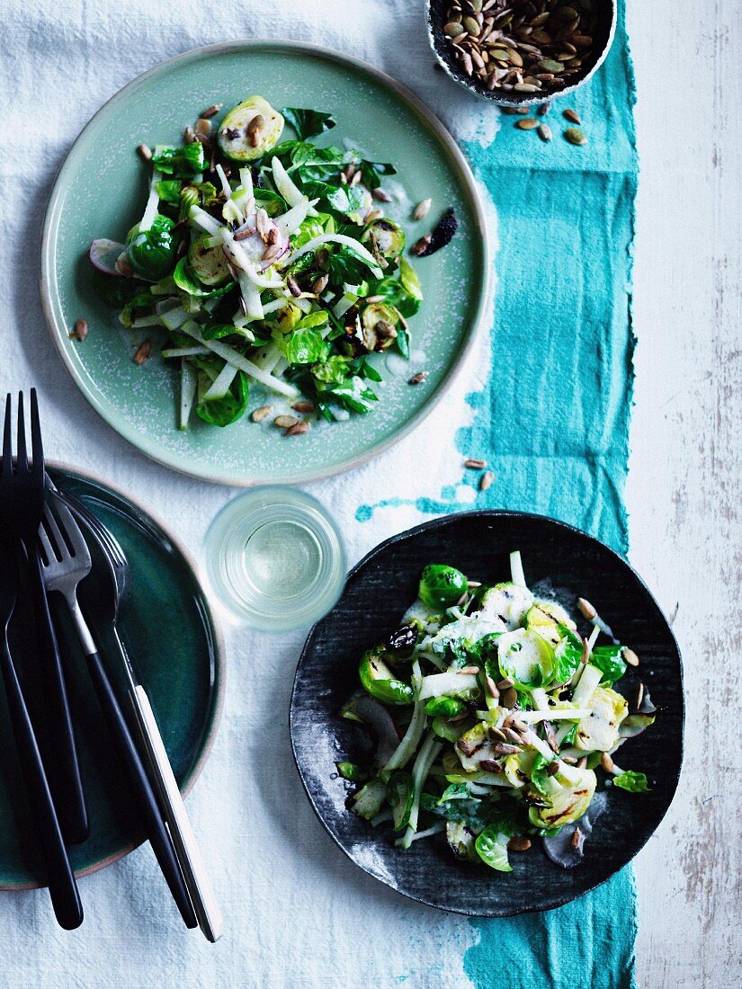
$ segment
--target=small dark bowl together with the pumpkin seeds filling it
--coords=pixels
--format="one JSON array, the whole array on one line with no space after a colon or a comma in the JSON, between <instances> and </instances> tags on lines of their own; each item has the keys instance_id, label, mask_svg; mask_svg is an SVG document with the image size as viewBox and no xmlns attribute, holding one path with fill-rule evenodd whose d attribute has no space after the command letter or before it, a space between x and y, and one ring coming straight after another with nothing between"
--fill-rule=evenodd
<instances>
[{"instance_id":1,"label":"small dark bowl together with the pumpkin seeds filling it","mask_svg":"<svg viewBox=\"0 0 742 989\"><path fill-rule=\"evenodd\" d=\"M574 92L603 64L616 0L427 0L430 45L476 96L532 106Z\"/></svg>"}]
</instances>

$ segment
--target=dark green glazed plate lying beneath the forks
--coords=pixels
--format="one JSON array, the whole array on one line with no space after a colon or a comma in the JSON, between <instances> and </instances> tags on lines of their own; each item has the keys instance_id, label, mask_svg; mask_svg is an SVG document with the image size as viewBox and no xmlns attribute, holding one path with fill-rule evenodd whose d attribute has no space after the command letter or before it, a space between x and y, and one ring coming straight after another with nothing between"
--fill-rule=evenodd
<instances>
[{"instance_id":1,"label":"dark green glazed plate lying beneath the forks","mask_svg":"<svg viewBox=\"0 0 742 989\"><path fill-rule=\"evenodd\" d=\"M221 640L206 597L183 551L138 505L92 478L66 469L49 473L59 488L76 494L111 529L129 558L134 589L120 631L185 792L206 761L222 706ZM94 574L87 580L95 580ZM23 612L14 617L13 641L28 637L26 621ZM91 826L88 841L70 848L79 876L131 852L143 835L121 784L122 770L73 630L61 621L58 630L69 672L70 705ZM105 638L100 646L104 660L107 653L115 657L107 650ZM107 667L112 676L119 677L114 662ZM28 663L23 664L23 671L29 703L38 705L38 676ZM115 682L124 687L123 677ZM0 888L29 888L44 881L44 870L2 696L0 752L4 753L0 761Z\"/></svg>"}]
</instances>

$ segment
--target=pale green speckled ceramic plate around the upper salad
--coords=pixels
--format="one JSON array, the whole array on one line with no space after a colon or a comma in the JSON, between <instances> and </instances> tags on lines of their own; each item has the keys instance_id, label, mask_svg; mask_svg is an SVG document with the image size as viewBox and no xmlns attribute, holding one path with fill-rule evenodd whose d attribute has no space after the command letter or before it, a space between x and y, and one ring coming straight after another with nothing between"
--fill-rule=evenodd
<instances>
[{"instance_id":1,"label":"pale green speckled ceramic plate around the upper salad","mask_svg":"<svg viewBox=\"0 0 742 989\"><path fill-rule=\"evenodd\" d=\"M205 107L230 107L254 93L276 107L329 111L337 127L324 135L326 143L352 139L375 160L394 162L411 202L428 197L433 202L426 221L408 225L415 239L449 206L459 219L451 244L416 265L425 300L411 327L414 360L396 362L394 373L386 375L382 401L369 414L322 423L291 441L247 416L225 429L199 422L179 432L174 372L157 357L141 368L133 363L145 333L134 337L98 301L86 256L95 237L123 240L139 220L146 197L146 169L135 150L141 141L176 142ZM57 176L42 244L51 336L86 399L155 460L200 478L242 485L323 478L400 439L440 398L460 365L485 308L489 271L469 166L430 111L362 62L289 42L199 48L155 66L117 93L78 137ZM82 344L68 336L81 317L90 324ZM421 370L428 372L427 380L410 386L408 379ZM250 407L264 403L265 394L254 388Z\"/></svg>"}]
</instances>

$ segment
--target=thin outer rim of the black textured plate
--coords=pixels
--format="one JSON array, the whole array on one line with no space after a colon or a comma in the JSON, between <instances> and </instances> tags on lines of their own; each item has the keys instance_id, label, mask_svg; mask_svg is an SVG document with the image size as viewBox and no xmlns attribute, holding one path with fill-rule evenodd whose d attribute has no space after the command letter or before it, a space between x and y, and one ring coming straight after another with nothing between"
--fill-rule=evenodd
<instances>
[{"instance_id":1,"label":"thin outer rim of the black textured plate","mask_svg":"<svg viewBox=\"0 0 742 989\"><path fill-rule=\"evenodd\" d=\"M430 519L427 522L421 522L418 525L413 526L413 528L411 528L411 529L406 529L403 532L398 532L398 533L395 533L392 536L388 536L386 539L382 540L382 542L378 543L375 547L373 547L373 549L369 550L369 552L366 553L365 556L363 556L358 561L358 563L356 563L348 571L347 581L350 581L351 578L355 577L367 564L371 563L377 556L379 556L381 553L383 553L388 547L394 546L396 543L400 543L400 542L406 541L408 539L413 539L413 538L417 537L418 535L420 535L423 532L434 531L435 529L444 528L447 525L456 524L456 522L458 522L460 519L463 519L463 518L529 518L529 519L537 519L538 521L546 522L546 523L552 524L552 525L556 525L558 528L565 529L565 530L567 530L568 532L570 532L572 534L581 536L582 538L587 539L589 542L598 544L600 547L603 548L603 550L606 550L611 556L615 557L618 560L618 562L620 564L622 564L629 571L629 573L631 574L631 576L633 577L633 579L637 582L637 584L639 584L639 586L647 594L650 602L652 604L654 604L654 606L657 608L657 611L658 611L659 615L661 616L662 620L664 621L665 625L667 626L667 631L668 631L669 636L670 636L670 641L671 641L671 643L672 643L672 645L673 645L673 647L675 649L675 653L676 653L677 658L678 658L678 666L679 666L679 670L680 670L679 699L680 699L680 728L681 728L681 758L680 758L680 760L678 762L678 765L675 768L675 770L672 773L672 776L670 778L670 781L671 781L671 784L672 784L672 790L670 792L670 796L669 796L669 799L667 801L667 805L666 805L665 809L662 811L662 814L660 815L660 817L659 817L659 819L658 819L655 827L646 836L646 838L644 838L640 843L637 844L636 848L629 855L629 857L626 859L626 861L624 861L621 865L618 865L611 872L609 872L608 875L605 876L605 878L600 879L600 880L598 880L598 881L596 881L594 883L591 883L586 889L584 889L580 893L577 893L576 895L566 895L566 896L563 896L563 897L559 897L559 899L555 903L551 903L548 907L542 907L542 906L538 906L538 905L536 905L536 906L524 906L524 907L521 907L521 908L518 908L518 909L515 909L515 910L507 910L506 909L506 910L498 911L498 913L487 913L487 914L483 914L481 912L465 910L465 909L462 909L460 907L444 906L444 905L442 905L440 903L432 903L430 900L424 899L423 897L420 897L420 896L416 896L414 893L409 892L407 890L398 889L397 887L395 887L395 886L391 885L390 883L386 882L384 879L382 879L379 876L375 875L373 872L370 872L367 868L365 868L365 866L359 864L355 860L355 858L353 857L353 855L350 854L350 852L347 849L344 848L344 846L341 844L341 842L339 841L339 839L336 837L336 835L330 829L329 825L325 821L324 816L321 814L321 812L320 812L320 810L319 810L319 808L318 808L318 806L317 806L317 804L315 802L314 795L313 795L313 793L312 793L312 791L310 789L308 780L307 780L304 772L302 771L302 766L299 763L299 757L297 755L296 746L294 744L294 725L295 725L295 718L294 718L294 706L295 705L294 705L294 701L295 701L296 692L297 692L297 681L299 679L299 674L300 674L301 668L302 668L302 666L303 666L303 664L304 664L304 662L305 662L305 660L307 658L307 654L308 654L308 652L310 650L310 647L312 645L312 640L314 639L314 636L315 636L315 633L317 631L318 626L323 621L325 621L325 618L327 618L332 613L332 611L334 610L334 608L337 607L337 604L340 603L340 601L342 600L342 597L343 597L343 595L345 593L344 588L343 588L342 594L340 594L340 597L337 599L337 602L330 609L330 611L328 611L327 614L323 618L320 619L320 621L315 622L315 624L312 626L312 628L307 633L307 639L305 640L304 646L302 648L301 656L299 657L299 661L297 662L296 671L294 673L294 682L293 682L293 685L292 685L292 688L291 688L291 697L290 697L290 700L289 700L289 735L290 735L290 739L291 739L291 753L292 753L292 756L294 757L294 764L296 765L297 771L299 773L299 778L302 781L302 785L304 786L305 792L306 792L307 797L309 799L309 802L310 802L310 804L312 806L312 810L315 812L315 816L320 821L320 823L322 824L322 826L325 828L325 831L327 832L327 834L329 835L329 837L332 839L332 841L334 842L334 844L337 846L337 848L342 852L342 854L344 854L347 858L349 858L350 861L357 868L360 868L367 875L371 876L372 879L376 879L378 882L380 882L383 885L387 886L389 889L392 889L395 893L399 894L400 896L405 897L406 899L413 900L416 903L421 903L423 906L430 907L431 909L434 909L434 910L442 910L445 913L457 914L459 916L464 916L464 917L479 917L479 918L495 919L495 918L517 917L517 916L521 916L523 914L547 913L547 912L549 912L551 910L558 910L560 907L563 907L566 904L573 902L574 900L580 899L580 897L585 896L588 893L592 893L593 890L598 889L600 886L603 886L603 884L606 883L609 879L612 879L614 875L616 875L618 872L620 872L622 869L624 869L630 862L633 861L633 859L636 857L636 855L639 854L642 851L642 849L647 845L647 843L649 842L649 840L656 834L657 829L659 828L659 826L662 824L662 822L664 821L665 817L667 816L667 813L670 810L670 807L672 806L672 803L675 800L675 796L676 796L676 794L678 792L678 784L680 782L681 771L682 771L682 768L683 768L683 757L685 755L686 699L685 699L685 692L684 692L683 656L682 656L682 653L681 653L681 650L680 650L680 646L678 645L678 640L676 639L675 633L673 632L672 626L671 626L670 622L667 620L664 611L660 607L660 605L659 605L659 603L657 601L657 598L654 596L654 594L649 589L649 587L647 586L647 584L644 583L644 581L639 576L639 574L637 574L637 572L634 570L634 568L631 566L631 564L628 562L628 560L621 553L617 552L612 547L608 546L607 543L604 543L603 540L602 539L599 539L597 536L593 536L589 532L586 532L584 529L580 529L576 525L571 525L569 522L564 522L561 519L553 518L551 515L544 515L544 514L541 514L540 512L519 511L519 510L512 509L512 508L477 508L477 509L474 509L472 511L452 512L452 513L450 513L448 515L441 515L438 518ZM347 582L346 582L346 584L347 584Z\"/></svg>"}]
</instances>

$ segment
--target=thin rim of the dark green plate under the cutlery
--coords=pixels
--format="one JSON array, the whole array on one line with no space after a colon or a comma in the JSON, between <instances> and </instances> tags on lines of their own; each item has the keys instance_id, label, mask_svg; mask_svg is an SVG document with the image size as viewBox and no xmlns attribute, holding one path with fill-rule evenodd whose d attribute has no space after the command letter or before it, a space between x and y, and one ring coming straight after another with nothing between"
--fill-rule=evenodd
<instances>
[{"instance_id":1,"label":"thin rim of the dark green plate under the cutlery","mask_svg":"<svg viewBox=\"0 0 742 989\"><path fill-rule=\"evenodd\" d=\"M190 571L191 577L193 578L197 586L201 588L203 594L203 601L204 604L206 605L205 614L207 619L209 620L209 624L211 625L211 631L214 640L214 678L217 684L217 691L216 691L216 701L212 707L211 717L209 718L209 721L207 722L206 725L203 747L198 755L196 762L193 764L193 768L183 780L182 785L179 787L183 797L186 797L193 789L196 780L201 775L201 771L206 765L209 756L211 755L211 751L214 746L214 740L217 737L217 732L219 731L219 726L222 721L222 713L225 704L225 688L227 682L225 640L222 632L222 626L220 625L219 620L217 619L214 611L212 610L211 605L209 604L209 599L207 597L203 585L198 579L198 567L196 566L196 562L193 559L193 556L190 553L190 551L186 549L183 543L176 536L173 536L170 529L168 529L168 527L162 523L161 519L159 519L156 515L153 515L148 508L144 508L144 506L140 504L139 500L137 500L137 498L132 497L132 495L129 494L128 492L123 491L117 485L112 485L109 481L104 480L103 478L99 477L97 474L92 474L90 471L83 471L79 467L73 467L71 464L67 464L62 461L48 460L46 461L46 466L50 467L52 470L55 471L63 471L65 474L74 475L75 477L81 478L83 481L91 481L93 484L100 485L101 488L106 489L106 491L109 491L112 494L116 494L118 497L122 498L122 500L128 502L134 508L136 508L137 511L141 512L142 515L145 515L146 518L150 522L152 522L154 526L162 533L162 535L165 536L168 539L168 541L175 547L175 549L178 551L183 561L185 562L186 567ZM108 855L108 857L106 858L101 858L100 861L93 862L92 865L88 865L86 868L76 869L74 873L75 878L82 879L84 876L90 875L92 872L98 872L100 869L106 868L108 865L113 865L113 863L119 861L120 858L126 858L128 854L138 849L139 846L143 845L145 841L146 839L142 838L142 840L139 843L131 843L129 845L125 845L124 848L120 849L118 852ZM24 889L45 889L45 888L46 886L44 885L44 883L41 882L3 883L2 885L0 885L0 892L11 892L11 891L24 890Z\"/></svg>"}]
</instances>

